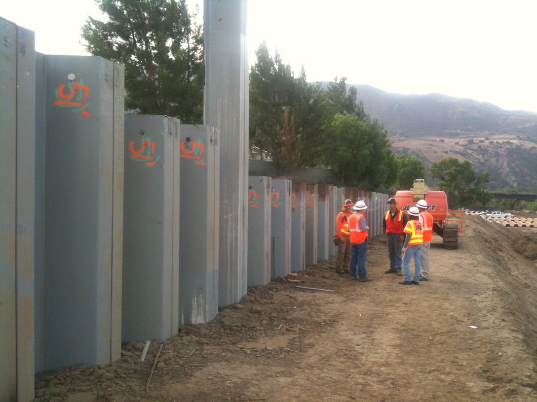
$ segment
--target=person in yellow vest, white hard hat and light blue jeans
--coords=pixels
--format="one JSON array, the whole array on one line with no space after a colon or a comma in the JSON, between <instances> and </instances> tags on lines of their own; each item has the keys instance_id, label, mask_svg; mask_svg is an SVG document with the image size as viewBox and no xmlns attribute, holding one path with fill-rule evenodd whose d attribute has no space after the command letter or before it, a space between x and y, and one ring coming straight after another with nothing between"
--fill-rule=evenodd
<instances>
[{"instance_id":1,"label":"person in yellow vest, white hard hat and light blue jeans","mask_svg":"<svg viewBox=\"0 0 537 402\"><path fill-rule=\"evenodd\" d=\"M419 222L419 209L411 206L408 210L409 221L404 228L405 239L403 243L403 259L401 265L404 270L404 281L400 285L419 285L419 276L422 272L421 257L423 243L423 229ZM410 260L414 257L414 277L410 279Z\"/></svg>"}]
</instances>

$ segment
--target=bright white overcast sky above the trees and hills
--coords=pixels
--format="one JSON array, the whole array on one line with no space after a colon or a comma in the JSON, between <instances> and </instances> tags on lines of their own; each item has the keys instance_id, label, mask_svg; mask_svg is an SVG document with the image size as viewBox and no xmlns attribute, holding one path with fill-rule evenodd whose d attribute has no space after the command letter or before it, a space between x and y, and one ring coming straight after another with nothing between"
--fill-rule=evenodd
<instances>
[{"instance_id":1,"label":"bright white overcast sky above the trees and hills","mask_svg":"<svg viewBox=\"0 0 537 402\"><path fill-rule=\"evenodd\" d=\"M187 0L189 9L201 0ZM93 0L6 0L0 17L35 32L45 54L79 44ZM298 76L347 77L402 94L443 93L537 112L535 0L249 0L250 64L266 40Z\"/></svg>"}]
</instances>

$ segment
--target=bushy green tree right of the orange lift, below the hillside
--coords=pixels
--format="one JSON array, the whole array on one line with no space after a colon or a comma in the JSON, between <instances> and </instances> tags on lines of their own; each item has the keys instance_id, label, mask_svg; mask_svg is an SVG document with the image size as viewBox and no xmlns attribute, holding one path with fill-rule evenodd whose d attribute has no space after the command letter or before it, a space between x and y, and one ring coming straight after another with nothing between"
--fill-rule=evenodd
<instances>
[{"instance_id":1,"label":"bushy green tree right of the orange lift, below the hillside","mask_svg":"<svg viewBox=\"0 0 537 402\"><path fill-rule=\"evenodd\" d=\"M485 190L485 184L490 181L488 170L477 175L468 160L460 162L449 157L434 162L430 168L430 176L440 180L437 187L446 192L451 208L487 205L490 202L490 192Z\"/></svg>"}]
</instances>

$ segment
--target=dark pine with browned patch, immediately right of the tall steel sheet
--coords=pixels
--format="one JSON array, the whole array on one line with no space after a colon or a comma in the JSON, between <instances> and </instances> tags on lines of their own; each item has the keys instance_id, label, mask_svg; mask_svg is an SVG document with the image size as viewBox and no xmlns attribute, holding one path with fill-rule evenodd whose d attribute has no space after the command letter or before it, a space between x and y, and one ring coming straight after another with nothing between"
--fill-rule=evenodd
<instances>
[{"instance_id":1,"label":"dark pine with browned patch, immediately right of the tall steel sheet","mask_svg":"<svg viewBox=\"0 0 537 402\"><path fill-rule=\"evenodd\" d=\"M284 168L315 166L324 123L320 86L307 83L303 70L295 78L278 52L270 56L265 43L256 55L250 70L250 145L269 152Z\"/></svg>"}]
</instances>

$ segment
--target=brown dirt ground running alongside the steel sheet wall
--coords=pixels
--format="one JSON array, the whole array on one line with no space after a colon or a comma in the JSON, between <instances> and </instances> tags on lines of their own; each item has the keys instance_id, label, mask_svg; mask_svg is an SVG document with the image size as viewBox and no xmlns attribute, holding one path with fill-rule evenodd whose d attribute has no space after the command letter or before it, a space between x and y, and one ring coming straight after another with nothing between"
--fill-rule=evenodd
<instances>
[{"instance_id":1,"label":"brown dirt ground running alongside the steel sheet wall","mask_svg":"<svg viewBox=\"0 0 537 402\"><path fill-rule=\"evenodd\" d=\"M144 362L129 343L112 366L40 373L35 400L537 400L537 229L467 216L459 248L435 235L430 256L431 280L400 286L376 237L372 282L331 257L152 342Z\"/></svg>"}]
</instances>

